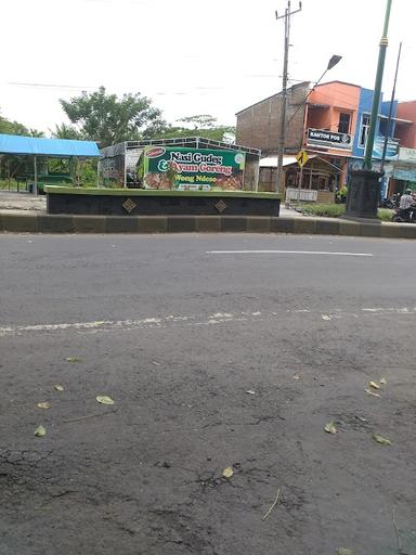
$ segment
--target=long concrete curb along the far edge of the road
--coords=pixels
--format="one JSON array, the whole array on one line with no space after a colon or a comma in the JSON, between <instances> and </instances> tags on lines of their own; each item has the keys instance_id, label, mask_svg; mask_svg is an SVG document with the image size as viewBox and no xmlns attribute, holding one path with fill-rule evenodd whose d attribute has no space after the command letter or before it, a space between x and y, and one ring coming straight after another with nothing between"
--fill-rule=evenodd
<instances>
[{"instance_id":1,"label":"long concrete curb along the far edge of the road","mask_svg":"<svg viewBox=\"0 0 416 555\"><path fill-rule=\"evenodd\" d=\"M262 216L72 216L1 211L0 231L10 233L299 233L416 238L413 223L368 223L333 218Z\"/></svg>"}]
</instances>

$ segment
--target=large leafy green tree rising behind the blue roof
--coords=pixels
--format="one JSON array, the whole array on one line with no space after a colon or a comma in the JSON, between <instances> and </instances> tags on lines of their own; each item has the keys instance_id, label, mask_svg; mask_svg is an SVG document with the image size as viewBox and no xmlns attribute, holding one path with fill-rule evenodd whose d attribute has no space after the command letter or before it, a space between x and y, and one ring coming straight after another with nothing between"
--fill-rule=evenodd
<instances>
[{"instance_id":1,"label":"large leafy green tree rising behind the blue roof","mask_svg":"<svg viewBox=\"0 0 416 555\"><path fill-rule=\"evenodd\" d=\"M82 93L69 101L61 100L69 120L78 126L81 135L108 146L122 141L140 140L166 124L161 112L152 106L151 99L127 93L121 98L107 94L104 87Z\"/></svg>"}]
</instances>

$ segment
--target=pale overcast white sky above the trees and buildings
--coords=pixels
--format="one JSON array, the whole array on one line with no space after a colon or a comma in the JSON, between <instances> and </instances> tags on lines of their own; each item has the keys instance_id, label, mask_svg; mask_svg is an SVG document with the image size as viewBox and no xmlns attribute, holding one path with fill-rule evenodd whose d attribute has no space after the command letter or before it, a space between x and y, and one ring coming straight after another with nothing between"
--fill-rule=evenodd
<instances>
[{"instance_id":1,"label":"pale overcast white sky above the trees and buildings","mask_svg":"<svg viewBox=\"0 0 416 555\"><path fill-rule=\"evenodd\" d=\"M0 0L0 111L49 133L68 122L60 99L104 86L141 92L171 124L235 113L282 88L287 0ZM298 8L291 0L291 9ZM374 88L386 0L303 0L292 16L291 85L324 81ZM416 1L393 0L384 78L390 98L403 41L396 98L416 99Z\"/></svg>"}]
</instances>

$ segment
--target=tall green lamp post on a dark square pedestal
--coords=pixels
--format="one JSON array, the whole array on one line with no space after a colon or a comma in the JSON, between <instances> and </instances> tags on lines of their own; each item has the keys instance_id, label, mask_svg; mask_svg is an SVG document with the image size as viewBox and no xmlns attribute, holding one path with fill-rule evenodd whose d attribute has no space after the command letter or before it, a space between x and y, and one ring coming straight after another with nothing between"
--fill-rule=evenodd
<instances>
[{"instance_id":1,"label":"tall green lamp post on a dark square pedestal","mask_svg":"<svg viewBox=\"0 0 416 555\"><path fill-rule=\"evenodd\" d=\"M381 96L386 50L389 43L387 31L389 29L391 3L392 0L387 0L385 26L382 29L382 37L380 39L376 82L374 86L372 116L369 119L368 135L365 144L364 169L352 170L350 172L346 210L347 218L377 218L378 202L380 198L380 178L384 176L384 172L372 171L372 158Z\"/></svg>"}]
</instances>

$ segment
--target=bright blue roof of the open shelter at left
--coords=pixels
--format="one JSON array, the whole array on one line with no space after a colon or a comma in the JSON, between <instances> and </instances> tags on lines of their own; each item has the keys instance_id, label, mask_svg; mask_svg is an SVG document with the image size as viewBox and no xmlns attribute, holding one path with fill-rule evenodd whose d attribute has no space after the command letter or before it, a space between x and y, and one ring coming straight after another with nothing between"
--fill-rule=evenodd
<instances>
[{"instance_id":1,"label":"bright blue roof of the open shelter at left","mask_svg":"<svg viewBox=\"0 0 416 555\"><path fill-rule=\"evenodd\" d=\"M0 154L31 154L39 156L100 156L93 141L38 139L17 134L0 134Z\"/></svg>"}]
</instances>

